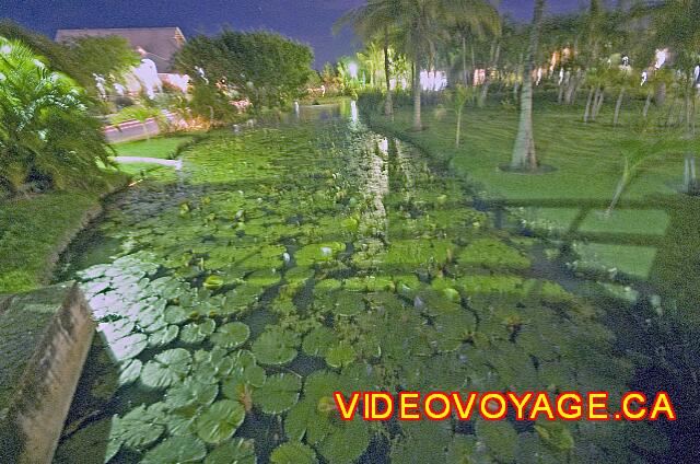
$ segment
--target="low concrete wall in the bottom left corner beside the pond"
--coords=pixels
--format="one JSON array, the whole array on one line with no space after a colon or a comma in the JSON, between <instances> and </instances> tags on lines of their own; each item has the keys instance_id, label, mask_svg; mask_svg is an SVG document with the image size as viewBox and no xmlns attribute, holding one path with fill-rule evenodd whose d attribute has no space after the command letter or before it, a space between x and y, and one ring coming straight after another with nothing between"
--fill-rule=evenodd
<instances>
[{"instance_id":1,"label":"low concrete wall in the bottom left corner beside the pond","mask_svg":"<svg viewBox=\"0 0 700 464\"><path fill-rule=\"evenodd\" d=\"M0 463L50 463L95 333L73 283L0 298Z\"/></svg>"}]
</instances>

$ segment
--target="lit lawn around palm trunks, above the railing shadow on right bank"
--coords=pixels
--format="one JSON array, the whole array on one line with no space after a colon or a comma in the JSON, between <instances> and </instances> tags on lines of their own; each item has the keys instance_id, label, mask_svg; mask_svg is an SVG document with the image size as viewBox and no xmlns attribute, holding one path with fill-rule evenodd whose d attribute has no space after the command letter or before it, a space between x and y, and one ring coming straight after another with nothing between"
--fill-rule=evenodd
<instances>
[{"instance_id":1,"label":"lit lawn around palm trunks, above the railing shadow on right bank","mask_svg":"<svg viewBox=\"0 0 700 464\"><path fill-rule=\"evenodd\" d=\"M428 129L409 134L421 147L451 160L452 167L482 185L490 196L508 200L608 201L620 178L623 159L617 144L635 137L631 130L612 128L604 111L598 123L581 121L579 107L539 104L534 113L535 144L539 162L555 169L546 174L505 173L499 169L511 161L518 114L512 108L465 109L462 146L455 147L456 120L452 112L428 108ZM394 121L380 117L401 131L410 127L410 108L399 111ZM677 192L682 182L682 158L660 154L642 165L623 200ZM574 204L575 206L575 204Z\"/></svg>"}]
</instances>

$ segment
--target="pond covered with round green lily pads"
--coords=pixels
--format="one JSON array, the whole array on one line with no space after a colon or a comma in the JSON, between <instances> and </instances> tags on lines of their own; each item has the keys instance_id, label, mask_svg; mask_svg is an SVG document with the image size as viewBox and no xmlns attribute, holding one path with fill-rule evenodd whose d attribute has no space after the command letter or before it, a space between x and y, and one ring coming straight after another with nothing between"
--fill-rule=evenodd
<instances>
[{"instance_id":1,"label":"pond covered with round green lily pads","mask_svg":"<svg viewBox=\"0 0 700 464\"><path fill-rule=\"evenodd\" d=\"M319 113L212 134L75 242L100 330L56 462L625 461L623 422L340 420L334 391L616 398L631 367L458 179Z\"/></svg>"}]
</instances>

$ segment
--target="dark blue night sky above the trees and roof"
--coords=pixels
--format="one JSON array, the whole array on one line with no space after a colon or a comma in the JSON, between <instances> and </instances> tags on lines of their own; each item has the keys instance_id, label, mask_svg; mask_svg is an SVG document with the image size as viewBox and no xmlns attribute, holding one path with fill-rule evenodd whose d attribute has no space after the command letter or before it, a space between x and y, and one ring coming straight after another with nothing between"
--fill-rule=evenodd
<instances>
[{"instance_id":1,"label":"dark blue night sky above the trees and roof","mask_svg":"<svg viewBox=\"0 0 700 464\"><path fill-rule=\"evenodd\" d=\"M529 20L534 0L502 0L501 10ZM582 0L550 0L550 12L576 10ZM0 0L0 18L54 37L58 28L179 26L186 36L233 28L270 28L308 43L316 66L357 48L352 34L334 36L334 22L363 0Z\"/></svg>"}]
</instances>

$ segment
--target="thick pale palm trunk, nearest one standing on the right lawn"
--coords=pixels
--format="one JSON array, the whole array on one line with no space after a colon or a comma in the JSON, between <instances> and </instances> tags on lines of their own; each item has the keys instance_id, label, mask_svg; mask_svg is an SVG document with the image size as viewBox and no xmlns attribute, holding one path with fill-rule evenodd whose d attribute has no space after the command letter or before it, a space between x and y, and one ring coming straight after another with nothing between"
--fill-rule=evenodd
<instances>
[{"instance_id":1,"label":"thick pale palm trunk, nearest one standing on the right lawn","mask_svg":"<svg viewBox=\"0 0 700 464\"><path fill-rule=\"evenodd\" d=\"M525 60L523 73L523 91L521 93L521 118L513 147L511 169L529 170L537 169L537 154L535 152L535 137L533 135L533 70L539 45L539 30L542 24L545 0L535 0L533 15L533 28L529 34L529 47Z\"/></svg>"}]
</instances>

